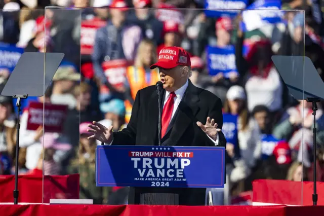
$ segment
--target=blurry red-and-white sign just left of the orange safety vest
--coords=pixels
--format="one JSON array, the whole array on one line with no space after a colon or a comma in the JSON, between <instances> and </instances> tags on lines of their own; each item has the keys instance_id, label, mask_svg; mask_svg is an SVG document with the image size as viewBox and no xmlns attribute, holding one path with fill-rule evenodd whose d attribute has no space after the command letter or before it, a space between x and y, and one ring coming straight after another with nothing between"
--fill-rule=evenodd
<instances>
[{"instance_id":1,"label":"blurry red-and-white sign just left of the orange safety vest","mask_svg":"<svg viewBox=\"0 0 324 216\"><path fill-rule=\"evenodd\" d=\"M130 65L130 62L126 59L115 59L110 61L104 61L102 63L102 69L105 73L105 76L108 82L115 87L123 88L126 81L126 70ZM105 86L102 86L101 92L107 92L108 89Z\"/></svg>"}]
</instances>

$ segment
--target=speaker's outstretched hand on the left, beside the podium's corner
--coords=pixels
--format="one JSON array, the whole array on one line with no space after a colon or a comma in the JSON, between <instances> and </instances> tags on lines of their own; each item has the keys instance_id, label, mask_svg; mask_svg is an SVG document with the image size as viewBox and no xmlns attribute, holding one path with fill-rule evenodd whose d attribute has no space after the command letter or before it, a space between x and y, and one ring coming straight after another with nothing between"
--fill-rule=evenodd
<instances>
[{"instance_id":1,"label":"speaker's outstretched hand on the left, beside the podium's corner","mask_svg":"<svg viewBox=\"0 0 324 216\"><path fill-rule=\"evenodd\" d=\"M89 136L88 139L95 138L101 142L108 144L112 141L112 126L106 128L98 122L92 122L92 124L89 124L88 127L90 127L91 129L88 129L87 131L93 133L93 135Z\"/></svg>"}]
</instances>

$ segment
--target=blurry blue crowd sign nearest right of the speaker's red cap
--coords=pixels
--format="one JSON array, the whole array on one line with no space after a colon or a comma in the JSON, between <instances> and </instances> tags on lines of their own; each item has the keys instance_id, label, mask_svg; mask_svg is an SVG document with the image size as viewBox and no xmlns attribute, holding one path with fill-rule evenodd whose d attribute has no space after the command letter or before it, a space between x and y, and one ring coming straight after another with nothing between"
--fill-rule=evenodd
<instances>
[{"instance_id":1,"label":"blurry blue crowd sign nearest right of the speaker's red cap","mask_svg":"<svg viewBox=\"0 0 324 216\"><path fill-rule=\"evenodd\" d=\"M229 78L230 72L237 73L234 46L229 45L225 48L208 46L207 54L209 75L223 73L225 78Z\"/></svg>"}]
</instances>

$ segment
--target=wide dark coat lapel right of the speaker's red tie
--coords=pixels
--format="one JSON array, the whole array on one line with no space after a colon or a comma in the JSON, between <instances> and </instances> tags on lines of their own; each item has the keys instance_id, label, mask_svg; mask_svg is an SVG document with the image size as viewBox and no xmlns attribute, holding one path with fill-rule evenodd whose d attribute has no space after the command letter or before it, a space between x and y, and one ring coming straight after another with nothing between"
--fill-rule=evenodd
<instances>
[{"instance_id":1,"label":"wide dark coat lapel right of the speaker's red tie","mask_svg":"<svg viewBox=\"0 0 324 216\"><path fill-rule=\"evenodd\" d=\"M170 134L170 139L172 139L170 145L175 145L188 126L195 121L195 115L199 111L198 101L197 88L189 80L183 99L178 106L177 116L175 116L176 119Z\"/></svg>"}]
</instances>

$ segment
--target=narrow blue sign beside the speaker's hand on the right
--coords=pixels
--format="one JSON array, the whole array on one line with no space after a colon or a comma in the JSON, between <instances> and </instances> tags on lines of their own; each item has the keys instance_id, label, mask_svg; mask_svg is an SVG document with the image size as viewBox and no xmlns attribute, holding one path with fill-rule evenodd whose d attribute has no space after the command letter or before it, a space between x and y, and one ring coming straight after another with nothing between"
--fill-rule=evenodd
<instances>
[{"instance_id":1,"label":"narrow blue sign beside the speaker's hand on the right","mask_svg":"<svg viewBox=\"0 0 324 216\"><path fill-rule=\"evenodd\" d=\"M232 143L234 146L238 145L237 138L237 115L223 114L223 127L222 132L228 143Z\"/></svg>"}]
</instances>

